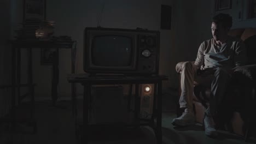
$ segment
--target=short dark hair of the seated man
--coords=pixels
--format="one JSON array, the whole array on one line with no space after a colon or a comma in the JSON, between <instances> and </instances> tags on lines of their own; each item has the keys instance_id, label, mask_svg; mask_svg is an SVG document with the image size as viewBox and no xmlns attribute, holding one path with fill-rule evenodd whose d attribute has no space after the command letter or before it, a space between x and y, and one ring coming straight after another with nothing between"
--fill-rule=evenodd
<instances>
[{"instance_id":1,"label":"short dark hair of the seated man","mask_svg":"<svg viewBox=\"0 0 256 144\"><path fill-rule=\"evenodd\" d=\"M217 25L222 25L224 28L230 29L232 27L232 17L229 14L217 14L212 18L212 22Z\"/></svg>"}]
</instances>

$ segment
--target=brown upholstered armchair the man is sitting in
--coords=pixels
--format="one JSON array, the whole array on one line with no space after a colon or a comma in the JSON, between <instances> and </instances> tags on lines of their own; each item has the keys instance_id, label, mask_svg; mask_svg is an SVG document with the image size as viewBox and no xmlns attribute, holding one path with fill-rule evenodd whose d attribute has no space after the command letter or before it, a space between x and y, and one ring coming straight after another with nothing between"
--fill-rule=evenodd
<instances>
[{"instance_id":1,"label":"brown upholstered armchair the man is sitting in","mask_svg":"<svg viewBox=\"0 0 256 144\"><path fill-rule=\"evenodd\" d=\"M256 98L256 28L237 28L231 29L229 35L240 38L244 41L247 50L247 64L243 67L237 68L234 71L229 88L227 89L226 100L228 106L223 106L223 111L231 111L230 116L226 116L225 130L245 136L248 138L249 132L252 130L252 122L255 120L253 115L251 116L249 111L256 110L256 103L254 103L254 97ZM181 72L181 68L184 62L179 62L176 65L176 71L178 74ZM194 62L191 62L194 63ZM181 78L181 77L179 77ZM193 95L193 108L195 112L196 122L202 123L204 112L206 110L208 100L210 99L210 87L199 86L194 83L194 95ZM179 95L181 95L181 87L179 87ZM179 99L179 98L178 98ZM177 104L177 116L181 115L179 109L179 103ZM217 121L217 123L221 123Z\"/></svg>"}]
</instances>

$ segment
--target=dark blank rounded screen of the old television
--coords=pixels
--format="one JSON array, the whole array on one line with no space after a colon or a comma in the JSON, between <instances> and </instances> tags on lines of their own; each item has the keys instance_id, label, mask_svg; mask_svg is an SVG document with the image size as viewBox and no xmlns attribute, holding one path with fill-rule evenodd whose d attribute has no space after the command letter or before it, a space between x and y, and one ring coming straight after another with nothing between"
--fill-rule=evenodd
<instances>
[{"instance_id":1,"label":"dark blank rounded screen of the old television","mask_svg":"<svg viewBox=\"0 0 256 144\"><path fill-rule=\"evenodd\" d=\"M92 64L104 67L126 67L132 62L132 38L100 35L92 39Z\"/></svg>"}]
</instances>

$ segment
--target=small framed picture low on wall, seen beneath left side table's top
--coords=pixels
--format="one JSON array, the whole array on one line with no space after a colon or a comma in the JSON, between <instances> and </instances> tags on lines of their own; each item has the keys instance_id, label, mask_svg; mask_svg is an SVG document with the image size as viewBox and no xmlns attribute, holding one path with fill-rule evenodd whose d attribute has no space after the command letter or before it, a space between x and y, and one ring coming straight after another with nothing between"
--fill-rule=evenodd
<instances>
[{"instance_id":1,"label":"small framed picture low on wall, seen beneath left side table's top","mask_svg":"<svg viewBox=\"0 0 256 144\"><path fill-rule=\"evenodd\" d=\"M59 49L41 48L41 65L59 64Z\"/></svg>"}]
</instances>

